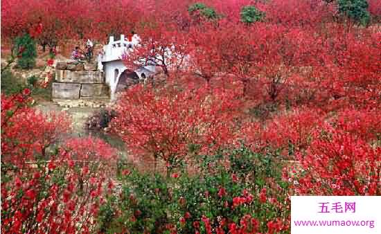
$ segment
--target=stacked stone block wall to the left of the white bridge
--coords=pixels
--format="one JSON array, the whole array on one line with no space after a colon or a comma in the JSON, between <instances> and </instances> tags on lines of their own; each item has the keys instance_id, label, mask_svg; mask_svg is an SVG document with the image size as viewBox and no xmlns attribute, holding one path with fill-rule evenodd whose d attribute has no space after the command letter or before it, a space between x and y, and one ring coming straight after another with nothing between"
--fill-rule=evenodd
<instances>
[{"instance_id":1,"label":"stacked stone block wall to the left of the white bridge","mask_svg":"<svg viewBox=\"0 0 381 234\"><path fill-rule=\"evenodd\" d=\"M57 62L52 90L53 100L109 97L109 88L105 84L103 72L97 71L96 64L87 62Z\"/></svg>"}]
</instances>

